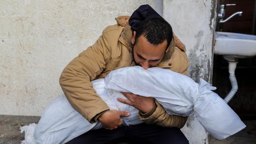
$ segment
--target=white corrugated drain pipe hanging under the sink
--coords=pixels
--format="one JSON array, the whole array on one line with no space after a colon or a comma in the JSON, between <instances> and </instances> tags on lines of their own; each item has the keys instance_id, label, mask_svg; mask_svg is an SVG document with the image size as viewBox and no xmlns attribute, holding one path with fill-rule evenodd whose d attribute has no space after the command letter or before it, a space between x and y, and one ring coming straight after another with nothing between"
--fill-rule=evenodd
<instances>
[{"instance_id":1,"label":"white corrugated drain pipe hanging under the sink","mask_svg":"<svg viewBox=\"0 0 256 144\"><path fill-rule=\"evenodd\" d=\"M232 89L230 90L230 92L228 93L228 95L224 98L224 101L226 103L228 103L233 96L236 94L237 89L238 89L238 85L237 85L237 81L236 81L236 76L235 76L235 70L236 70L236 64L238 62L230 62L228 61L228 72L229 72L229 79L230 79L230 83L232 86Z\"/></svg>"}]
</instances>

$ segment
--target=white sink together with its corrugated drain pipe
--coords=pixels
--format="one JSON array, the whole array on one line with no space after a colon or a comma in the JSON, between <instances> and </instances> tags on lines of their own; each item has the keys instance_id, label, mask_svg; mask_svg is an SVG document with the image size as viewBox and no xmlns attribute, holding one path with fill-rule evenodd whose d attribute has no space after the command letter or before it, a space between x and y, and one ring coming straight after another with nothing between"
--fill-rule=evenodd
<instances>
[{"instance_id":1,"label":"white sink together with its corrugated drain pipe","mask_svg":"<svg viewBox=\"0 0 256 144\"><path fill-rule=\"evenodd\" d=\"M232 86L224 98L224 101L228 103L238 89L235 76L237 58L249 58L256 55L256 35L215 31L214 54L223 55L228 61L229 79Z\"/></svg>"}]
</instances>

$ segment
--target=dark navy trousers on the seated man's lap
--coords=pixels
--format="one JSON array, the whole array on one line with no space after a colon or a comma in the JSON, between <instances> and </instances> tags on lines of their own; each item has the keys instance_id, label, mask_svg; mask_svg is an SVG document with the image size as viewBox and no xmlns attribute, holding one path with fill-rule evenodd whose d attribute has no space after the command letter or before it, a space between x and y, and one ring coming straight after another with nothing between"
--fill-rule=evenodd
<instances>
[{"instance_id":1,"label":"dark navy trousers on the seated man's lap","mask_svg":"<svg viewBox=\"0 0 256 144\"><path fill-rule=\"evenodd\" d=\"M74 138L69 144L189 144L185 135L176 127L138 124L117 129L105 128L88 131Z\"/></svg>"}]
</instances>

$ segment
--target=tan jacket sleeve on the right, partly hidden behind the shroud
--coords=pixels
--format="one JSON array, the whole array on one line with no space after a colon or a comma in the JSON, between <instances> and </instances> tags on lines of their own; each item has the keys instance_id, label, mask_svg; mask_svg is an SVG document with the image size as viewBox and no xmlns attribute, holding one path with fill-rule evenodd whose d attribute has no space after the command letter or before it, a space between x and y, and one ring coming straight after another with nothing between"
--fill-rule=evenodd
<instances>
[{"instance_id":1,"label":"tan jacket sleeve on the right, partly hidden behind the shroud","mask_svg":"<svg viewBox=\"0 0 256 144\"><path fill-rule=\"evenodd\" d=\"M187 75L189 61L184 51L175 47L172 61L173 67L171 70ZM147 114L142 114L139 111L138 116L146 124L156 124L163 127L182 128L187 122L187 116L169 115L157 101L155 101L154 107Z\"/></svg>"}]
</instances>

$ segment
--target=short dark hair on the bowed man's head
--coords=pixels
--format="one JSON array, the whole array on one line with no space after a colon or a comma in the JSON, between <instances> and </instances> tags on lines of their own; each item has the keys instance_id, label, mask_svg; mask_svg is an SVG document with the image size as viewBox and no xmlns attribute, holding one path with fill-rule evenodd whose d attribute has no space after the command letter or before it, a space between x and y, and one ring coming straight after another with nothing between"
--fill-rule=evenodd
<instances>
[{"instance_id":1,"label":"short dark hair on the bowed man's head","mask_svg":"<svg viewBox=\"0 0 256 144\"><path fill-rule=\"evenodd\" d=\"M163 18L147 18L137 28L135 42L141 35L154 46L158 46L166 40L167 49L173 39L173 30L171 25Z\"/></svg>"}]
</instances>

